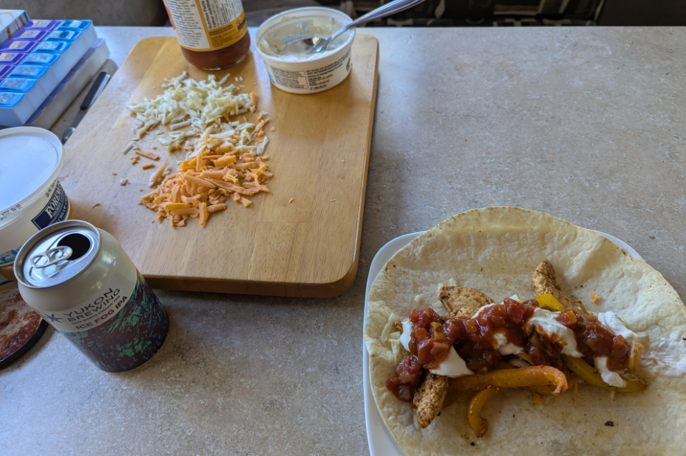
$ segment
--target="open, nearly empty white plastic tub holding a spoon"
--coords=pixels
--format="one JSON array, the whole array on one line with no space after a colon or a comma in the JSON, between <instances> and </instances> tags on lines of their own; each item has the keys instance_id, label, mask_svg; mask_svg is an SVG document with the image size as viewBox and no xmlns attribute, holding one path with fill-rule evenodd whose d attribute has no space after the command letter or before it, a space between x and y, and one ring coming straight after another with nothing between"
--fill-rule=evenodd
<instances>
[{"instance_id":1,"label":"open, nearly empty white plastic tub holding a spoon","mask_svg":"<svg viewBox=\"0 0 686 456\"><path fill-rule=\"evenodd\" d=\"M279 35L279 30L285 30L291 26L306 28L312 25L313 21L329 19L336 21L340 27L353 21L343 12L331 8L297 8L270 17L257 29L255 48L265 62L272 84L290 93L317 93L331 89L331 87L343 82L351 70L351 52L355 39L354 29L337 37L332 43L335 49L327 50L322 54L299 58L281 57L272 52L268 54L264 52L265 49L269 50L268 46L263 46L265 37ZM331 33L336 30L337 28L334 28ZM317 34L315 33L315 35ZM324 36L324 34L320 36ZM288 35L288 37L297 39L297 35ZM332 45L330 45L330 49Z\"/></svg>"}]
</instances>

